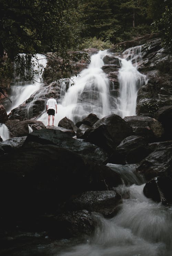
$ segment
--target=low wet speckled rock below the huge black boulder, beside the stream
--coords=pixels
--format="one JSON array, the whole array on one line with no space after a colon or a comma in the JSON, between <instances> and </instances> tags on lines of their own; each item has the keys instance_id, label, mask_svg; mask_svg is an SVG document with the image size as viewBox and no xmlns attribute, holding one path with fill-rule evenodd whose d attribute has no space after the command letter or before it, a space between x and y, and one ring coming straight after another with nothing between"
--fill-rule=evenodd
<instances>
[{"instance_id":1,"label":"low wet speckled rock below the huge black boulder, beside the stream","mask_svg":"<svg viewBox=\"0 0 172 256\"><path fill-rule=\"evenodd\" d=\"M98 212L105 217L112 217L120 203L122 203L121 196L113 190L86 191L71 198L65 207L73 210L86 209L89 212Z\"/></svg>"}]
</instances>

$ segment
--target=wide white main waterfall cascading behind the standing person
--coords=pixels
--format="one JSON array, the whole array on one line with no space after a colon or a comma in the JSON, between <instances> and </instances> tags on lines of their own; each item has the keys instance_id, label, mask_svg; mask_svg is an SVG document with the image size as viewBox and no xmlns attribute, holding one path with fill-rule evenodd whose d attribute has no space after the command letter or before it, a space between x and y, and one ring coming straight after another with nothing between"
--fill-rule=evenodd
<instances>
[{"instance_id":1,"label":"wide white main waterfall cascading behind the standing person","mask_svg":"<svg viewBox=\"0 0 172 256\"><path fill-rule=\"evenodd\" d=\"M136 115L137 92L147 82L146 76L138 72L136 65L141 59L141 46L131 48L123 54L126 59L119 58L119 97L111 95L112 83L102 70L103 57L113 54L107 50L99 51L98 54L92 55L88 68L71 79L67 92L57 105L58 114L54 122L56 126L65 116L76 123L90 113L96 114L98 118L110 114L118 114L122 118ZM64 94L64 88L62 91ZM39 117L39 121L47 125L46 113Z\"/></svg>"}]
</instances>

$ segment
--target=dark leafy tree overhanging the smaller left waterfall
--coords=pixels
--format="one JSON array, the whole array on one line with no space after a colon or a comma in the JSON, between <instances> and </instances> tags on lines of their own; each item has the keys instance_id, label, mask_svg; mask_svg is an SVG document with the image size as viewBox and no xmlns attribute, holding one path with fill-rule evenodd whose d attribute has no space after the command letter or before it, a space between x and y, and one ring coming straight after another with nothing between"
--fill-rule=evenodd
<instances>
[{"instance_id":1,"label":"dark leafy tree overhanging the smaller left waterfall","mask_svg":"<svg viewBox=\"0 0 172 256\"><path fill-rule=\"evenodd\" d=\"M77 0L0 0L0 4L1 64L4 51L8 61L19 53L52 51L64 67L67 50L79 41Z\"/></svg>"}]
</instances>

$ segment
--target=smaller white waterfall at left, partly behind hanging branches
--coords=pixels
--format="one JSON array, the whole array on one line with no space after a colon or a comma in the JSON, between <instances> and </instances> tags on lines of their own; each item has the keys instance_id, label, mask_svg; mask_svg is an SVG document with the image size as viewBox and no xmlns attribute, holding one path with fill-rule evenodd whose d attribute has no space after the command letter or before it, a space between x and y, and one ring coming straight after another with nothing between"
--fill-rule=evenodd
<instances>
[{"instance_id":1,"label":"smaller white waterfall at left, partly behind hanging branches","mask_svg":"<svg viewBox=\"0 0 172 256\"><path fill-rule=\"evenodd\" d=\"M22 58L25 58L25 54L21 54L21 56ZM32 56L30 67L28 67L28 69L32 70L33 80L26 82L20 80L20 77L17 77L17 80L14 80L15 85L11 86L11 91L9 92L9 98L11 99L12 104L8 103L8 106L6 107L7 114L9 114L12 109L23 104L26 99L29 99L32 94L40 89L43 83L42 75L46 63L47 60L45 55L35 54ZM27 73L27 71L25 70L24 73Z\"/></svg>"}]
</instances>

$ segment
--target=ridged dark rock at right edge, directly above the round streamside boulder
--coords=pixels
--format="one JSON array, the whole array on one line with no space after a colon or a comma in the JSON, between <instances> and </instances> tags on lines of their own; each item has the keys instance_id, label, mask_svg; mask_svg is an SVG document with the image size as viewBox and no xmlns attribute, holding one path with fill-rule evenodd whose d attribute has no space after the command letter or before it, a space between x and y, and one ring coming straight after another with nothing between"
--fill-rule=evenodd
<instances>
[{"instance_id":1,"label":"ridged dark rock at right edge, directly above the round streamside boulder","mask_svg":"<svg viewBox=\"0 0 172 256\"><path fill-rule=\"evenodd\" d=\"M142 173L146 180L166 174L172 175L172 149L153 151L144 158L137 172Z\"/></svg>"}]
</instances>

